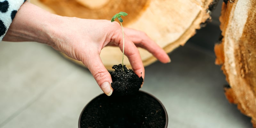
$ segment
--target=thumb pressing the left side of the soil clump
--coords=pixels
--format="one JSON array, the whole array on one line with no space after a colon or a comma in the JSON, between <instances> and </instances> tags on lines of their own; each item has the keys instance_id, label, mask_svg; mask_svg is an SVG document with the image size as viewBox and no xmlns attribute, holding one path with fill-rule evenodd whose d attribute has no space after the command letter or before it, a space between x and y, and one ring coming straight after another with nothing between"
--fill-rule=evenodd
<instances>
[{"instance_id":1,"label":"thumb pressing the left side of the soil clump","mask_svg":"<svg viewBox=\"0 0 256 128\"><path fill-rule=\"evenodd\" d=\"M84 65L90 70L101 90L110 96L113 92L113 88L110 85L112 83L111 75L103 65L99 55L93 56L90 60L85 61Z\"/></svg>"}]
</instances>

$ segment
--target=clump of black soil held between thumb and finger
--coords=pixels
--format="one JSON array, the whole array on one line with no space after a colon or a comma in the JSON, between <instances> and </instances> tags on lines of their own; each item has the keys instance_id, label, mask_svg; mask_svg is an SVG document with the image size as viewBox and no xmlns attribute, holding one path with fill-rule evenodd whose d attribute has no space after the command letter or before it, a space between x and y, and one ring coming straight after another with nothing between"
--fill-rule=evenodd
<instances>
[{"instance_id":1,"label":"clump of black soil held between thumb and finger","mask_svg":"<svg viewBox=\"0 0 256 128\"><path fill-rule=\"evenodd\" d=\"M139 91L143 83L142 76L139 77L132 69L127 69L125 65L123 71L122 64L114 65L112 68L115 69L111 73L113 96L131 95Z\"/></svg>"}]
</instances>

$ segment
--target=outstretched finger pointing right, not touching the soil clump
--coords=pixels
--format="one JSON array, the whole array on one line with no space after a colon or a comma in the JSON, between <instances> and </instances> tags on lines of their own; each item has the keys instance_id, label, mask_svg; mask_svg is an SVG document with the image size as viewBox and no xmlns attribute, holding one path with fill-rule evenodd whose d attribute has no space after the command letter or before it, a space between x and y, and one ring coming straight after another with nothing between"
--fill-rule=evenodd
<instances>
[{"instance_id":1,"label":"outstretched finger pointing right, not touching the soil clump","mask_svg":"<svg viewBox=\"0 0 256 128\"><path fill-rule=\"evenodd\" d=\"M160 62L171 62L171 59L169 58L167 53L151 38L149 38L146 33L131 28L124 28L124 33L129 36L129 38L136 46L148 50L148 52L155 56Z\"/></svg>"}]
</instances>

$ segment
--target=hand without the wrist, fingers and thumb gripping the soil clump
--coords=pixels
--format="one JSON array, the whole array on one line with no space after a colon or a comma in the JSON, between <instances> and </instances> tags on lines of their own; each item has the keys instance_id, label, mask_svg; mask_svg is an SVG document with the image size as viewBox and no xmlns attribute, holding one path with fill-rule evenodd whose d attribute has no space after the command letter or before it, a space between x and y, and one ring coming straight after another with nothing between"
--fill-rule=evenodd
<instances>
[{"instance_id":1,"label":"hand without the wrist, fingers and thumb gripping the soil clump","mask_svg":"<svg viewBox=\"0 0 256 128\"><path fill-rule=\"evenodd\" d=\"M64 52L69 57L82 61L90 70L100 88L111 95L112 83L108 70L100 59L100 51L106 45L119 46L123 49L123 37L120 25L109 20L90 20L70 17L59 17L62 24L54 28L58 33L53 35L56 50ZM144 78L145 70L137 46L147 49L164 63L170 61L168 55L144 32L124 28L125 49L133 71ZM121 51L120 51L121 54Z\"/></svg>"}]
</instances>

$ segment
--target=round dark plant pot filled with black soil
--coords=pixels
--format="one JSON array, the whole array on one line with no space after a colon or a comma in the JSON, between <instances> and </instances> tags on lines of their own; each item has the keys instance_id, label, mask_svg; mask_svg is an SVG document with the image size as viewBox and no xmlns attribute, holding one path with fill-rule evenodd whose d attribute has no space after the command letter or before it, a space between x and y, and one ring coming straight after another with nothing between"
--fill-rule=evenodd
<instances>
[{"instance_id":1,"label":"round dark plant pot filled with black soil","mask_svg":"<svg viewBox=\"0 0 256 128\"><path fill-rule=\"evenodd\" d=\"M79 117L78 128L167 128L168 115L156 97L143 91L123 97L100 94Z\"/></svg>"}]
</instances>

